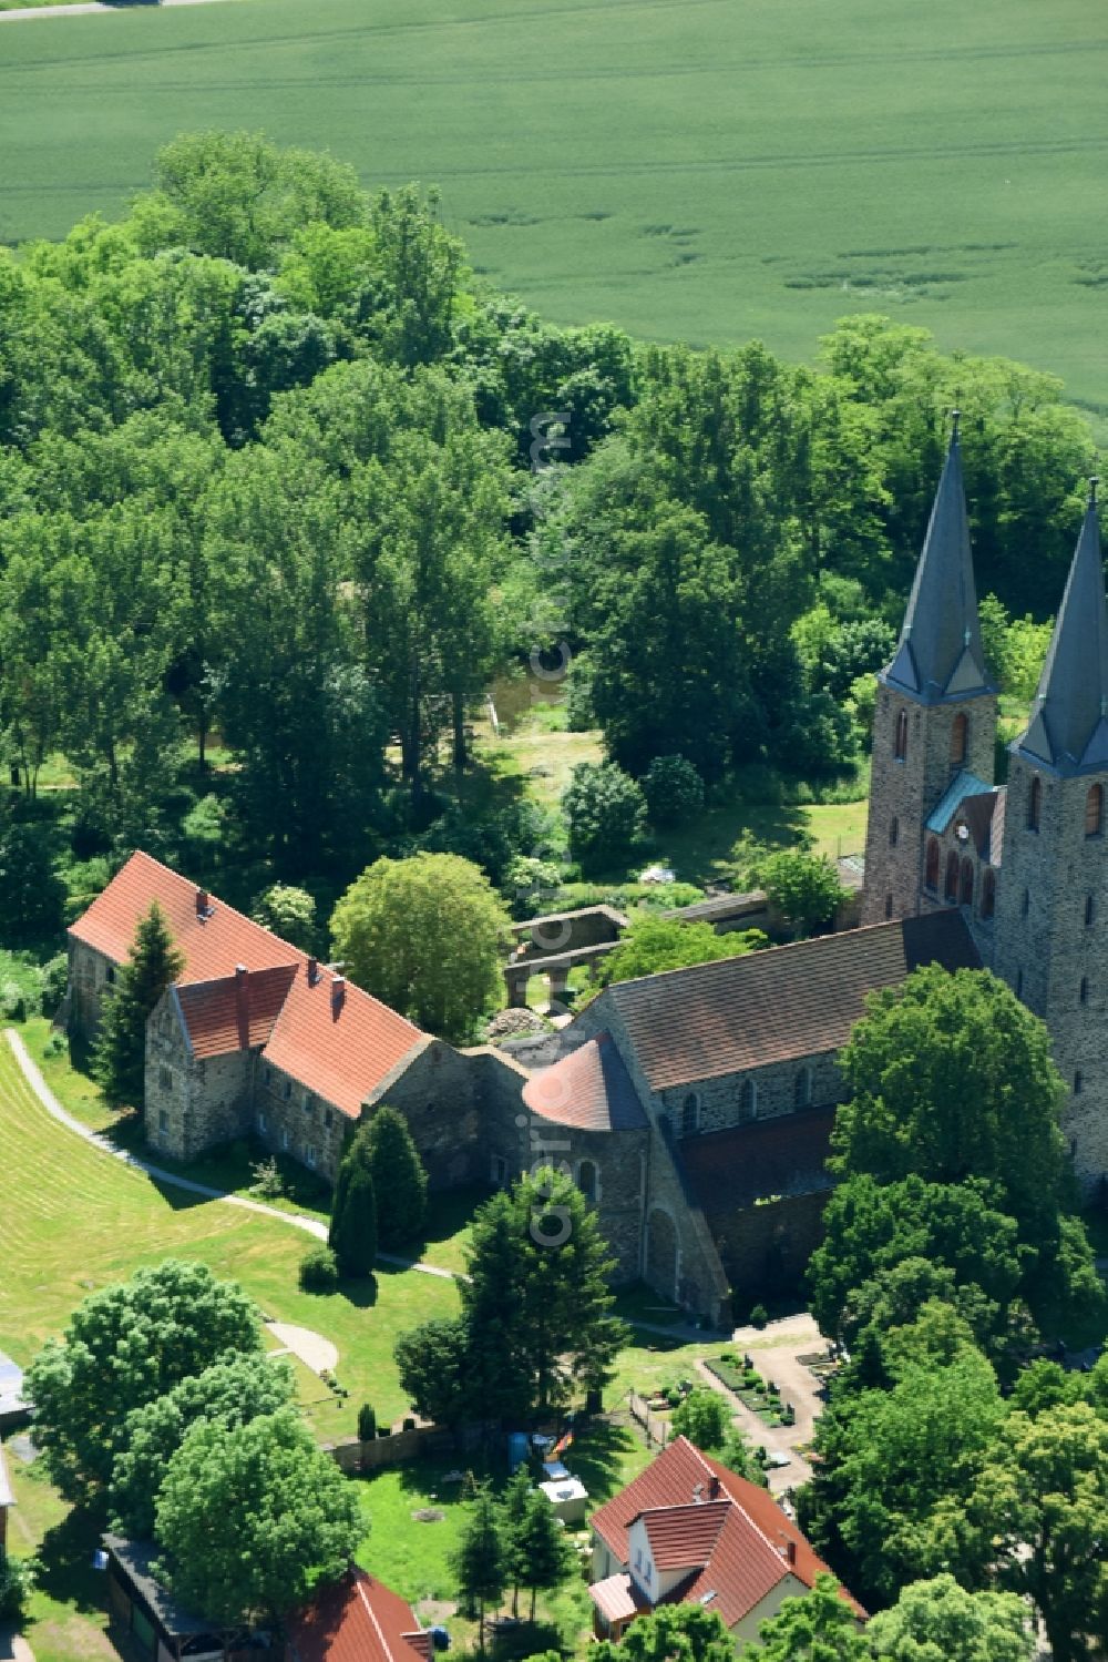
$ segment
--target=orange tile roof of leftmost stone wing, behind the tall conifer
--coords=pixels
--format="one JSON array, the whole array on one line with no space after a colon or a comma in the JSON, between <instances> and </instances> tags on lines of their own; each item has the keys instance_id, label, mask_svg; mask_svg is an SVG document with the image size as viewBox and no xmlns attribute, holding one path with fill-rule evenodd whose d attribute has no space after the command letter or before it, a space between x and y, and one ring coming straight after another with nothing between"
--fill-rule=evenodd
<instances>
[{"instance_id":1,"label":"orange tile roof of leftmost stone wing, behind the tall conifer","mask_svg":"<svg viewBox=\"0 0 1108 1662\"><path fill-rule=\"evenodd\" d=\"M223 901L208 896L204 916L198 909L198 897L203 894L194 883L150 854L131 854L103 894L76 919L70 934L121 964L131 951L140 919L150 911L150 902L158 901L173 939L184 954L179 986L233 976L236 964L272 969L277 964L301 962L302 952L294 946L279 941Z\"/></svg>"}]
</instances>

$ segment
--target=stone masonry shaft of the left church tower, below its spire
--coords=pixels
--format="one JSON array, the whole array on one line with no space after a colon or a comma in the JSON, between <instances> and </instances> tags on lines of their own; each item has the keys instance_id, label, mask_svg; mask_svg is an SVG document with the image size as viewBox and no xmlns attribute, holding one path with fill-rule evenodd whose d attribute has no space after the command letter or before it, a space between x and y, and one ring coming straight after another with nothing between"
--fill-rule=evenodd
<instances>
[{"instance_id":1,"label":"stone masonry shaft of the left church tower, below its spire","mask_svg":"<svg viewBox=\"0 0 1108 1662\"><path fill-rule=\"evenodd\" d=\"M909 713L909 743L907 755L899 760L895 731L902 710ZM963 763L950 760L950 738L958 715L968 716ZM944 705L920 705L882 681L877 683L864 924L884 922L885 917L914 917L920 911L927 816L940 803L958 768L968 768L985 784L992 784L995 733L997 700L992 693ZM890 841L894 819L895 843Z\"/></svg>"}]
</instances>

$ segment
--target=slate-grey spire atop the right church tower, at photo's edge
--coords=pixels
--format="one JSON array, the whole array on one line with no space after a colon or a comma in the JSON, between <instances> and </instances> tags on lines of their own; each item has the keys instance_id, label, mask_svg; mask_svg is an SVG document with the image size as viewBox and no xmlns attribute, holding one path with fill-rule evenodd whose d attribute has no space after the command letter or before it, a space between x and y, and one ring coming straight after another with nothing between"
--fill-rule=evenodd
<instances>
[{"instance_id":1,"label":"slate-grey spire atop the right church tower, at photo's edge","mask_svg":"<svg viewBox=\"0 0 1108 1662\"><path fill-rule=\"evenodd\" d=\"M1108 610L1096 480L1027 733L1012 746L1058 773L1108 770Z\"/></svg>"}]
</instances>

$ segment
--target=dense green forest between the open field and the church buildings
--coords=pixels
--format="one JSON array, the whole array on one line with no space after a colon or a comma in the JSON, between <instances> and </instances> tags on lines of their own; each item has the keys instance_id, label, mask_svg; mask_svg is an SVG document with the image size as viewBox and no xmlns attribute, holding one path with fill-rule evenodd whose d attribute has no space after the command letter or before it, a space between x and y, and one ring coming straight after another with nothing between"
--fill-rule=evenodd
<instances>
[{"instance_id":1,"label":"dense green forest between the open field and the church buildings","mask_svg":"<svg viewBox=\"0 0 1108 1662\"><path fill-rule=\"evenodd\" d=\"M0 249L3 944L56 939L135 846L238 904L417 849L503 884L565 833L458 788L500 676L563 685L636 779L832 779L954 406L1027 696L1093 455L1057 379L880 316L811 366L553 326L434 191L176 138L121 219Z\"/></svg>"}]
</instances>

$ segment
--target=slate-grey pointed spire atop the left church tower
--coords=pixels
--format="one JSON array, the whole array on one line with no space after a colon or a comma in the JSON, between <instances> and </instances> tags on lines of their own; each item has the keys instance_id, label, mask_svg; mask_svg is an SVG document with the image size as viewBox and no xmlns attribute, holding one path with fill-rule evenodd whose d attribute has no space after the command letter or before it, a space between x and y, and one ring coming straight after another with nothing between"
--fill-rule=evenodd
<instances>
[{"instance_id":1,"label":"slate-grey pointed spire atop the left church tower","mask_svg":"<svg viewBox=\"0 0 1108 1662\"><path fill-rule=\"evenodd\" d=\"M915 567L900 645L882 680L925 705L993 690L977 617L958 411L954 411L950 449Z\"/></svg>"}]
</instances>

